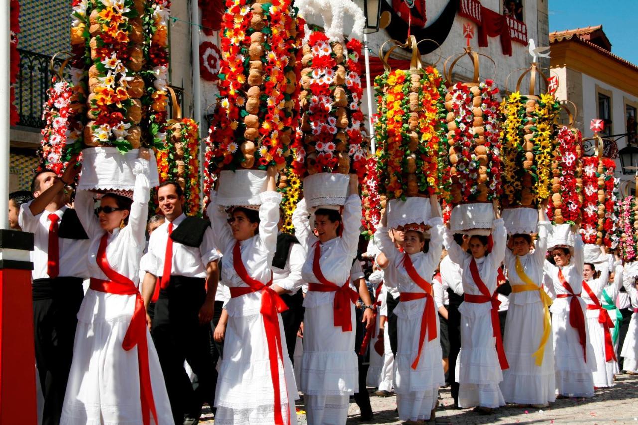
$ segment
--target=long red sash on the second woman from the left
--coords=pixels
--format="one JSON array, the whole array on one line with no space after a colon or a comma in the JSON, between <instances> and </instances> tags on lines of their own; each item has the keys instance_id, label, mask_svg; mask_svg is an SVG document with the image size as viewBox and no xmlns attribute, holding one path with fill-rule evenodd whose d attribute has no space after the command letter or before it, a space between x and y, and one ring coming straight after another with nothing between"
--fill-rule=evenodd
<instances>
[{"instance_id":1,"label":"long red sash on the second woman from the left","mask_svg":"<svg viewBox=\"0 0 638 425\"><path fill-rule=\"evenodd\" d=\"M241 280L244 281L249 288L230 288L231 298L241 297L241 295L252 294L258 291L262 292L260 313L262 313L263 329L266 333L268 358L271 366L271 379L274 389L274 419L276 425L283 425L283 417L281 415L281 390L279 389L279 361L281 361L283 365L283 352L281 350L278 313L286 311L288 307L279 295L270 288L272 285L272 275L268 285L263 285L263 283L248 275L246 266L241 259L239 241L235 242L233 248L233 266L235 267L235 272L237 272ZM288 400L287 392L286 400Z\"/></svg>"}]
</instances>

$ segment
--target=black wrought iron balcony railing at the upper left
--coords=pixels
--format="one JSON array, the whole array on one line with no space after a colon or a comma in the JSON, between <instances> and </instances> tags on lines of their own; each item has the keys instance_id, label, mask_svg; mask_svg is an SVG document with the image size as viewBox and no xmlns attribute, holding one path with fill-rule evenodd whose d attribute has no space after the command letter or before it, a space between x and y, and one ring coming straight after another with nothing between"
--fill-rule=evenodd
<instances>
[{"instance_id":1,"label":"black wrought iron balcony railing at the upper left","mask_svg":"<svg viewBox=\"0 0 638 425\"><path fill-rule=\"evenodd\" d=\"M15 107L20 120L18 125L43 128L42 105L47 100L47 89L51 87L52 72L49 68L51 56L30 52L19 48L20 70L15 87ZM56 57L56 69L61 66L64 58ZM65 77L68 77L66 75Z\"/></svg>"}]
</instances>

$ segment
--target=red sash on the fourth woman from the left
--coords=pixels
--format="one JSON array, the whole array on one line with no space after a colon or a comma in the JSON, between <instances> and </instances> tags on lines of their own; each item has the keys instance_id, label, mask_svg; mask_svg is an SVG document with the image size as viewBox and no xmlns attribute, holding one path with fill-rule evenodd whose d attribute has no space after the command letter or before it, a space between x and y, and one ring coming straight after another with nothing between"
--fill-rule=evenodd
<instances>
[{"instance_id":1,"label":"red sash on the fourth woman from the left","mask_svg":"<svg viewBox=\"0 0 638 425\"><path fill-rule=\"evenodd\" d=\"M420 292L403 292L399 295L399 301L405 302L423 298L426 299L426 306L423 308L421 329L419 332L419 352L417 352L417 357L412 362L412 369L417 369L423 350L423 343L426 340L426 331L427 341L432 341L436 338L436 306L434 306L434 298L432 297L432 285L419 275L408 253L404 253L403 255L403 267L405 267L405 271L408 272L410 279L412 279L412 281L417 284L417 287L421 288L425 294Z\"/></svg>"}]
</instances>

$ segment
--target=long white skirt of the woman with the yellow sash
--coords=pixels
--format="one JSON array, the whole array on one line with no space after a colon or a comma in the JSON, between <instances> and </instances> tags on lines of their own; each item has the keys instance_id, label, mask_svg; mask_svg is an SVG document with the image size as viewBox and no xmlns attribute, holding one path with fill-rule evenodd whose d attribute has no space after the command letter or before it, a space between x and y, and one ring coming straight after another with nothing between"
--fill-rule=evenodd
<instances>
[{"instance_id":1,"label":"long white skirt of the woman with the yellow sash","mask_svg":"<svg viewBox=\"0 0 638 425\"><path fill-rule=\"evenodd\" d=\"M503 371L501 392L508 403L544 404L556 399L554 346L551 335L545 344L543 362L536 365L544 325L543 304L510 302L505 325L505 355L510 367Z\"/></svg>"}]
</instances>

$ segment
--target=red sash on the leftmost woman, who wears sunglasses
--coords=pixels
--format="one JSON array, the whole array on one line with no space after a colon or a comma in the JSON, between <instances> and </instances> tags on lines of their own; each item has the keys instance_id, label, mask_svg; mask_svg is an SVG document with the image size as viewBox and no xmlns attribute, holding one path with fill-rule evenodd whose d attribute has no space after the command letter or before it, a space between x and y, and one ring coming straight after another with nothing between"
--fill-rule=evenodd
<instances>
[{"instance_id":1,"label":"red sash on the leftmost woman, who wears sunglasses","mask_svg":"<svg viewBox=\"0 0 638 425\"><path fill-rule=\"evenodd\" d=\"M135 287L132 280L114 271L107 260L107 238L105 233L100 239L98 248L98 258L96 262L100 269L107 275L109 280L91 278L89 288L97 292L105 292L115 295L135 295L135 310L133 317L126 329L122 348L128 351L137 345L137 365L140 374L140 401L142 405L142 423L150 424L150 414L153 415L155 423L158 422L158 414L155 410L153 392L151 387L151 373L149 372L149 349L146 341L146 311L142 295Z\"/></svg>"}]
</instances>

